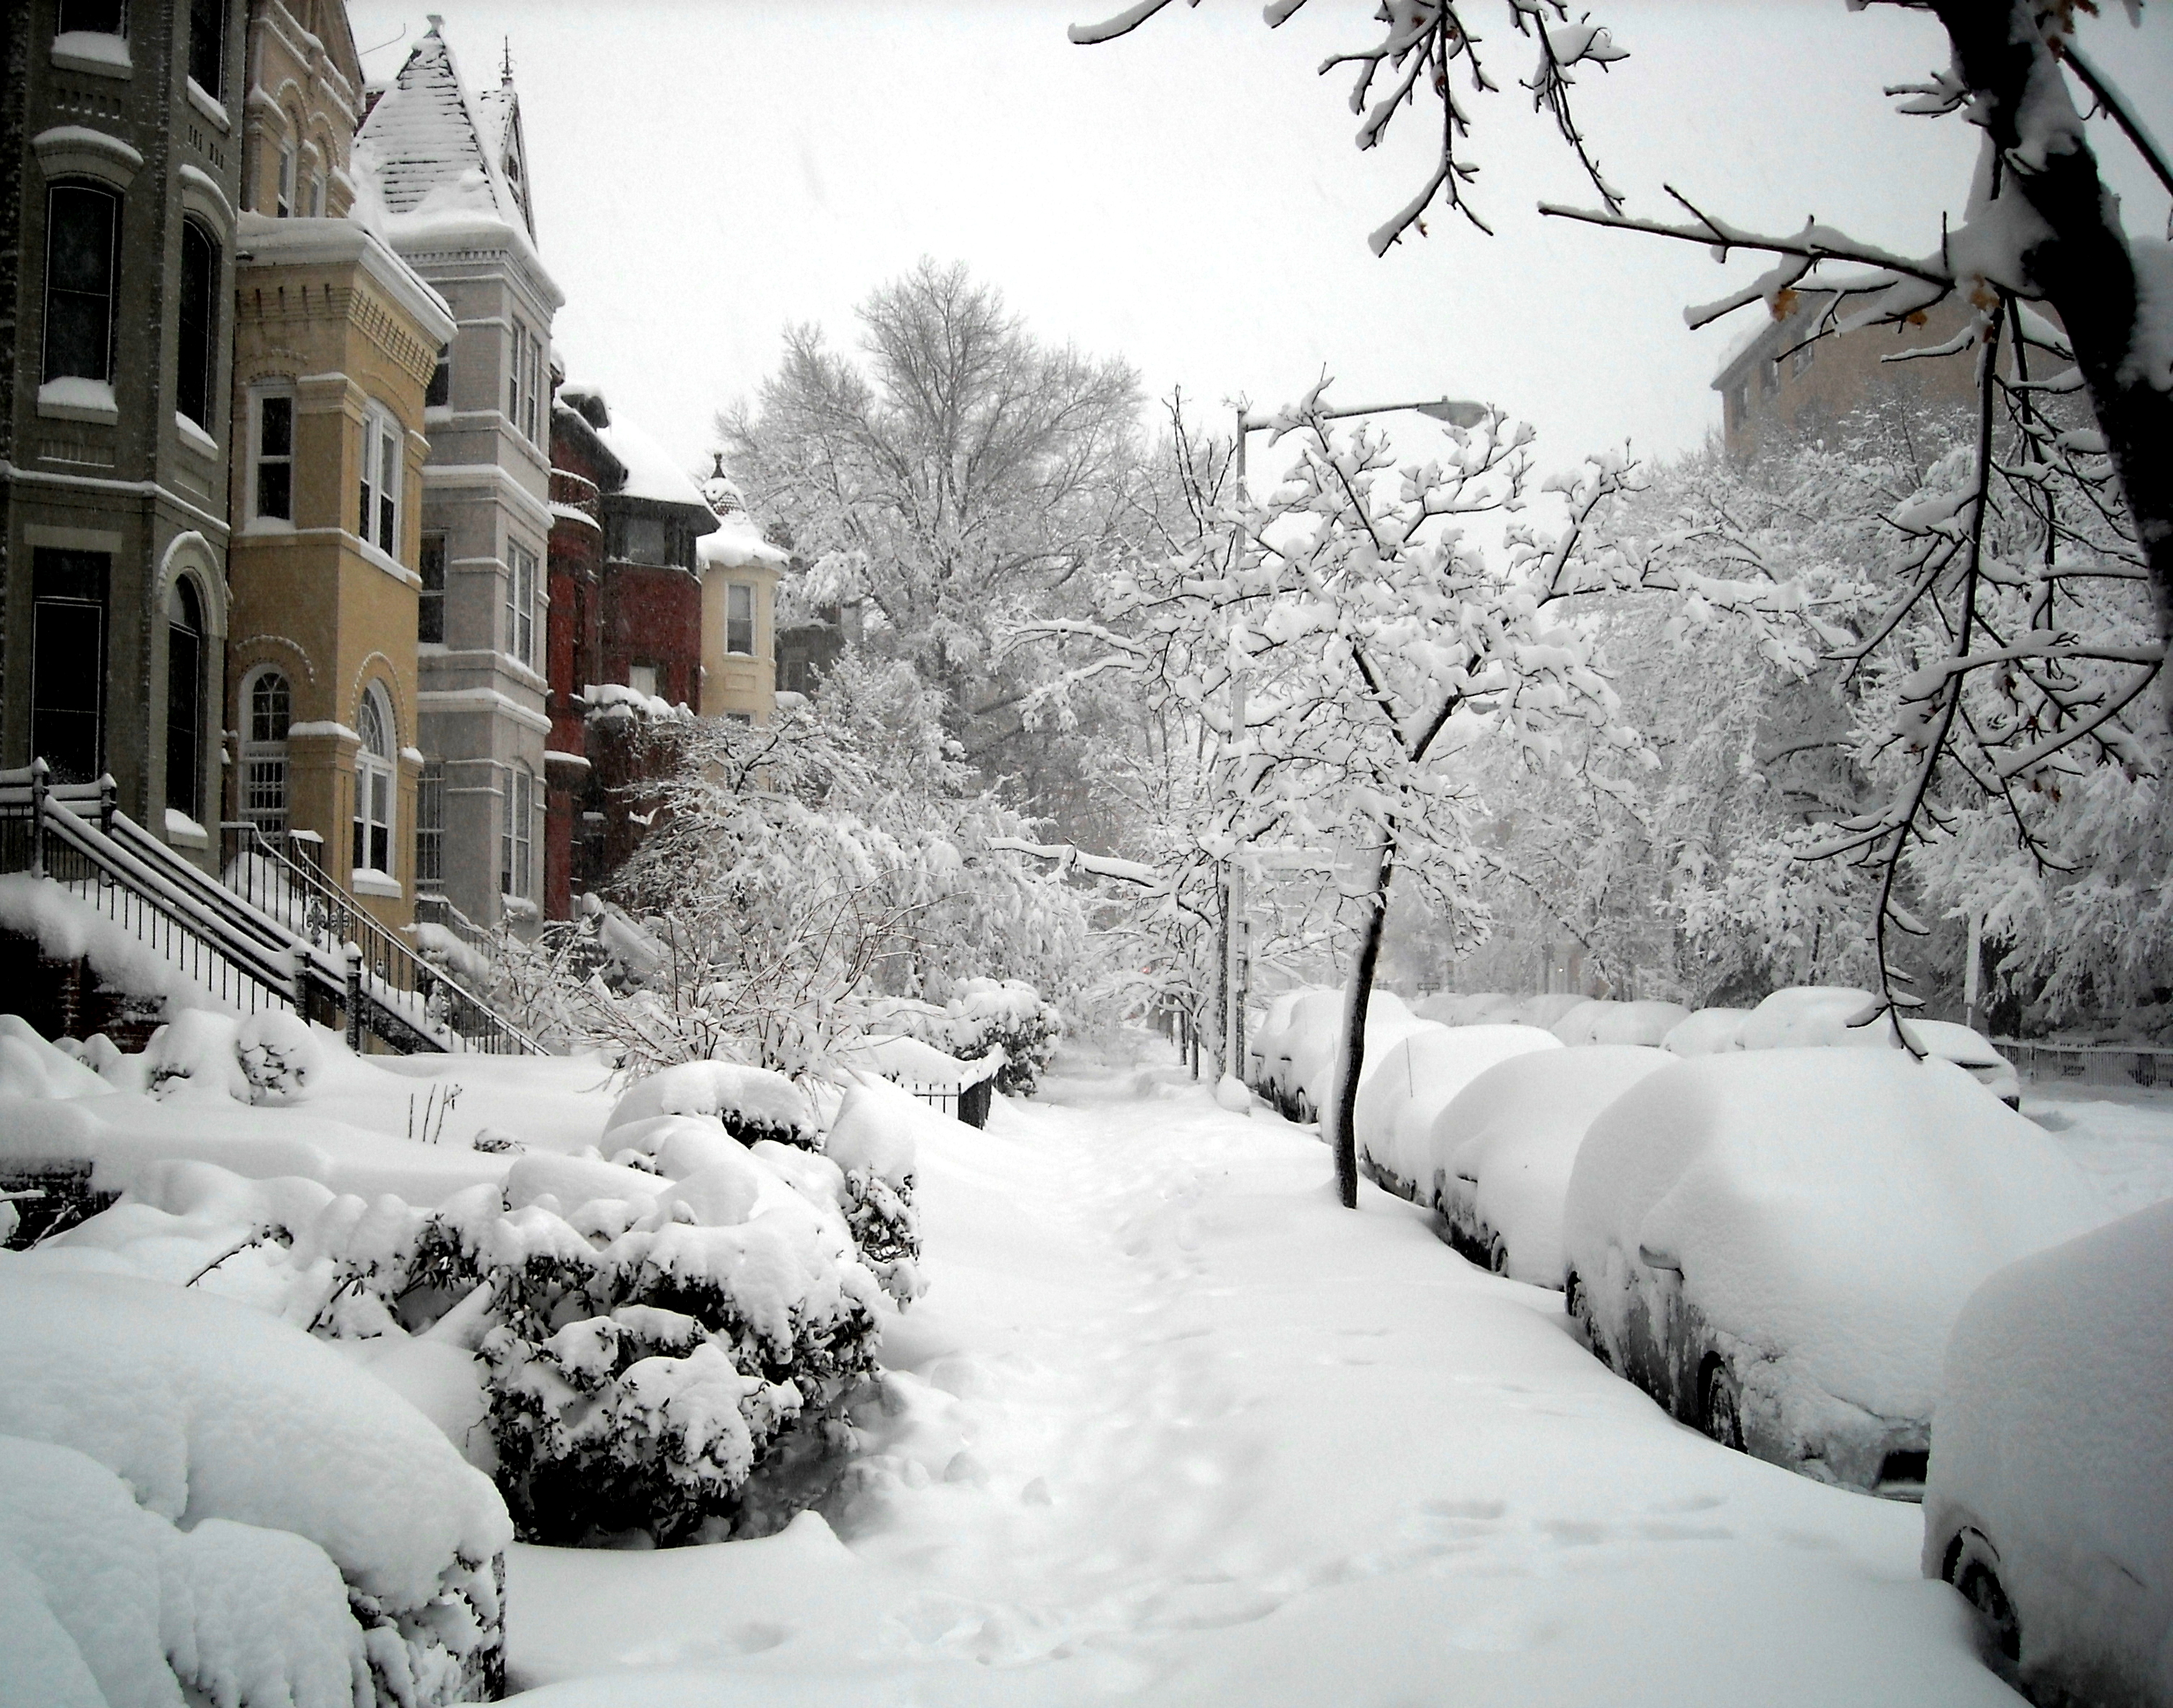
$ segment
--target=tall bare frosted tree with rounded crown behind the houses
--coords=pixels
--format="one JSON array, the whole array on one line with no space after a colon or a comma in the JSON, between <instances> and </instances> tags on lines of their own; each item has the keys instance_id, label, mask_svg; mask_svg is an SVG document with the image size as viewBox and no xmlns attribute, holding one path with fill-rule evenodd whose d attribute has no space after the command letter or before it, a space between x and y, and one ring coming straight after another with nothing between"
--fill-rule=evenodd
<instances>
[{"instance_id":1,"label":"tall bare frosted tree with rounded crown behind the houses","mask_svg":"<svg viewBox=\"0 0 2173 1708\"><path fill-rule=\"evenodd\" d=\"M995 652L1023 617L1091 598L1117 552L1139 380L1043 343L963 265L921 261L858 317L858 359L791 328L754 406L717 432L808 561L804 598L858 602L869 645L941 689L952 732L997 776L1028 756L1006 743L1019 685Z\"/></svg>"}]
</instances>

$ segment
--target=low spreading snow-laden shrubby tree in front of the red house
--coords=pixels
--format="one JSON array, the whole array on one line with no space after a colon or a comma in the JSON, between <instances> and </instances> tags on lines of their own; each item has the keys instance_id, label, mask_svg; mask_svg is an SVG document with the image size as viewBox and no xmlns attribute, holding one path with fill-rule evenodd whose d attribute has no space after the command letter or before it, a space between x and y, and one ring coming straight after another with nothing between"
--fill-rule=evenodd
<instances>
[{"instance_id":1,"label":"low spreading snow-laden shrubby tree in front of the red house","mask_svg":"<svg viewBox=\"0 0 2173 1708\"><path fill-rule=\"evenodd\" d=\"M1080 897L995 843L1026 826L980 791L906 661L847 650L767 726L674 724L641 850L556 954L593 969L563 1026L632 1065L734 1056L806 1071L874 993L1026 978L1065 1000Z\"/></svg>"}]
</instances>

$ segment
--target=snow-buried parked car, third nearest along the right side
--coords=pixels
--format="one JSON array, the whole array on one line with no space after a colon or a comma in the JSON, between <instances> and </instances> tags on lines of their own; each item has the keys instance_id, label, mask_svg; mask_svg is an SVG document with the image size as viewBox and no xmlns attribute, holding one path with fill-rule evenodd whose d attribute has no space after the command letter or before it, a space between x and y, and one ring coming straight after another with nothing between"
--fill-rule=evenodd
<instances>
[{"instance_id":1,"label":"snow-buried parked car, third nearest along the right side","mask_svg":"<svg viewBox=\"0 0 2173 1708\"><path fill-rule=\"evenodd\" d=\"M1630 1043L1499 1060L1436 1121L1452 1147L1432 1180L1449 1245L1534 1286L1562 1284L1562 1200L1584 1130L1673 1056Z\"/></svg>"}]
</instances>

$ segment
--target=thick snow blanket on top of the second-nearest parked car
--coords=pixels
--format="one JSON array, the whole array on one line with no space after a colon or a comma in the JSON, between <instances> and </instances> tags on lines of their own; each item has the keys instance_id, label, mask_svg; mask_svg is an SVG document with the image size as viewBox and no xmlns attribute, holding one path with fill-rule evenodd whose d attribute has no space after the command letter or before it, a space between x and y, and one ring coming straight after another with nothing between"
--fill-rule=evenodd
<instances>
[{"instance_id":1,"label":"thick snow blanket on top of the second-nearest parked car","mask_svg":"<svg viewBox=\"0 0 2173 1708\"><path fill-rule=\"evenodd\" d=\"M1927 1417L1971 1291L2106 1215L2034 1121L1951 1063L1760 1050L1610 1104L1562 1236L1580 1273L1604 1273L1608 1247L1669 1256L1714 1328L1880 1417Z\"/></svg>"}]
</instances>

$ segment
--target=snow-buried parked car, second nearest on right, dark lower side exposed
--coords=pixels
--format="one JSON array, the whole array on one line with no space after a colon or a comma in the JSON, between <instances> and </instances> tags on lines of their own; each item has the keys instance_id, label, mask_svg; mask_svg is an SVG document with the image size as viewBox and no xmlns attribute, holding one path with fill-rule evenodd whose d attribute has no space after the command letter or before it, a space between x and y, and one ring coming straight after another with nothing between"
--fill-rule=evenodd
<instances>
[{"instance_id":1,"label":"snow-buried parked car, second nearest on right, dark lower side exposed","mask_svg":"<svg viewBox=\"0 0 2173 1708\"><path fill-rule=\"evenodd\" d=\"M1586 1130L1565 1304L1602 1362L1684 1423L1821 1482L1914 1495L1962 1302L2103 1219L2075 1163L1954 1063L1699 1056Z\"/></svg>"}]
</instances>

